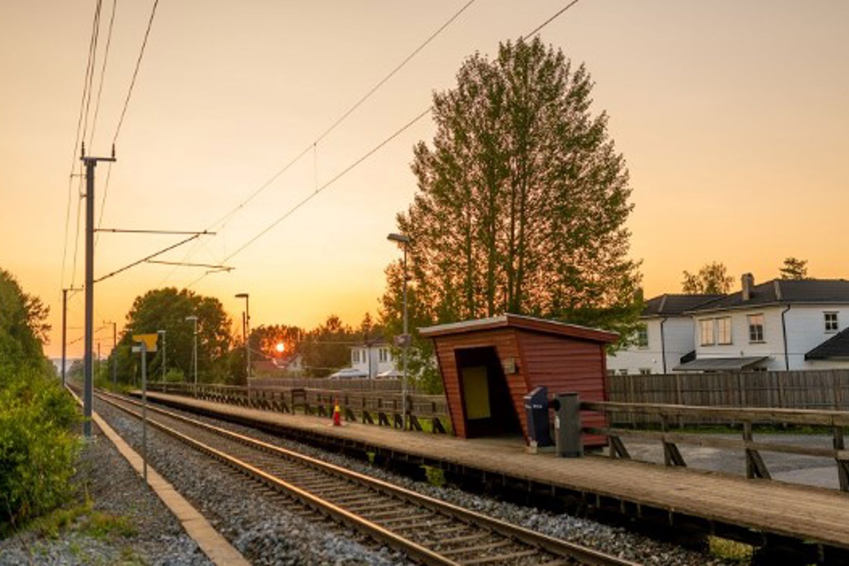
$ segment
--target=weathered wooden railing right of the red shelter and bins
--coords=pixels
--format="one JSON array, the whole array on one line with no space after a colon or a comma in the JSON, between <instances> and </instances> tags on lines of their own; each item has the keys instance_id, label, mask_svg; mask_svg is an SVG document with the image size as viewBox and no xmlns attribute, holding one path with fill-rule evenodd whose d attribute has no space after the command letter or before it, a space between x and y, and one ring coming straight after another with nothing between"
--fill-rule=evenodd
<instances>
[{"instance_id":1,"label":"weathered wooden railing right of the red shelter and bins","mask_svg":"<svg viewBox=\"0 0 849 566\"><path fill-rule=\"evenodd\" d=\"M610 441L610 457L629 458L622 437L644 440L659 440L663 446L663 460L667 466L686 466L678 444L710 446L726 450L745 452L746 477L770 479L769 470L761 457L761 451L783 452L801 456L827 457L835 460L841 491L849 491L849 451L843 429L849 427L849 412L814 411L806 409L743 408L732 406L689 406L660 405L649 403L617 403L584 401L584 411L604 412L608 415L637 413L651 416L660 423L660 430L622 429L613 426L585 428L590 434L605 434ZM682 418L687 420L722 422L742 425L742 438L720 438L715 435L671 432L670 425ZM832 431L832 448L793 446L752 440L752 423L807 425L824 427Z\"/></svg>"}]
</instances>

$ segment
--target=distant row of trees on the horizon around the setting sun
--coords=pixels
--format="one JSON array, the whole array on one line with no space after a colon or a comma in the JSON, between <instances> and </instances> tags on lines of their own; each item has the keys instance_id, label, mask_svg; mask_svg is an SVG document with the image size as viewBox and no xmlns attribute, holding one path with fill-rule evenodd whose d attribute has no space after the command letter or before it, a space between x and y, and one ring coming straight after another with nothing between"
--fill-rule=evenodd
<instances>
[{"instance_id":1,"label":"distant row of trees on the horizon around the setting sun","mask_svg":"<svg viewBox=\"0 0 849 566\"><path fill-rule=\"evenodd\" d=\"M234 332L233 319L221 301L175 288L153 289L133 301L117 347L107 360L95 365L98 382L106 384L114 375L120 384L139 384L140 359L132 351L132 336L160 331L164 332L160 332L157 351L149 355L147 363L149 378L194 381L195 317L199 383L245 384L245 339L239 331ZM301 356L301 375L325 377L350 365L352 346L381 335L380 325L368 313L357 327L335 315L312 329L261 325L250 331L250 358L253 363ZM82 363L76 362L70 374L82 377Z\"/></svg>"}]
</instances>

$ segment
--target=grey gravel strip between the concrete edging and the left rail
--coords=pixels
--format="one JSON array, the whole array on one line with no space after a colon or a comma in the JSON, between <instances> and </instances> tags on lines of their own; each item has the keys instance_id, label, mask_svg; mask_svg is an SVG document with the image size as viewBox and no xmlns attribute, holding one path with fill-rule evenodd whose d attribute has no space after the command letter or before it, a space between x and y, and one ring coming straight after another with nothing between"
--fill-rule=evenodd
<instances>
[{"instance_id":1,"label":"grey gravel strip between the concrete edging and the left rail","mask_svg":"<svg viewBox=\"0 0 849 566\"><path fill-rule=\"evenodd\" d=\"M130 446L140 450L137 419L99 400L94 407ZM148 456L151 465L250 563L407 563L391 549L370 548L340 535L334 524L292 513L289 500L263 496L256 483L152 428L148 429Z\"/></svg>"}]
</instances>

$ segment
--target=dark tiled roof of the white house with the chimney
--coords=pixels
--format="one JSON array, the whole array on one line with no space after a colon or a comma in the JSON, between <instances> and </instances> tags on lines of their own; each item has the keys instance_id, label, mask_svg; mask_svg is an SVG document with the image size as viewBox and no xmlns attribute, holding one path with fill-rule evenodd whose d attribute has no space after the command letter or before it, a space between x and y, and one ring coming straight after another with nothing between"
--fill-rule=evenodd
<instances>
[{"instance_id":1,"label":"dark tiled roof of the white house with the chimney","mask_svg":"<svg viewBox=\"0 0 849 566\"><path fill-rule=\"evenodd\" d=\"M846 279L773 279L751 287L749 300L742 291L727 294L689 309L688 313L727 311L751 306L849 303Z\"/></svg>"}]
</instances>

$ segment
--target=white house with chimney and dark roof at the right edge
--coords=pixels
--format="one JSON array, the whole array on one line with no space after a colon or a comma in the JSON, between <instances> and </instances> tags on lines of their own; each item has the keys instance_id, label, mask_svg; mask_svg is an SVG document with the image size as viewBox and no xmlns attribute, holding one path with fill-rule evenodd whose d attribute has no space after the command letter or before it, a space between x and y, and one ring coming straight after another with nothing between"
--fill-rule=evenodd
<instances>
[{"instance_id":1,"label":"white house with chimney and dark roof at the right edge","mask_svg":"<svg viewBox=\"0 0 849 566\"><path fill-rule=\"evenodd\" d=\"M686 311L695 359L676 372L849 367L849 281L775 279Z\"/></svg>"}]
</instances>

